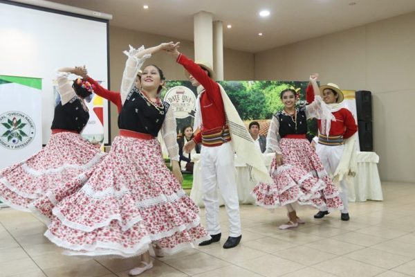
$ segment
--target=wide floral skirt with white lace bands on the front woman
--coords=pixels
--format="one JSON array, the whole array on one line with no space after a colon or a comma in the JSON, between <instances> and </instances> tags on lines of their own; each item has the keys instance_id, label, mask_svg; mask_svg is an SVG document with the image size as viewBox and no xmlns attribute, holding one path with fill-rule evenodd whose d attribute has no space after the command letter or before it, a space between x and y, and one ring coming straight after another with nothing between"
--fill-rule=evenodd
<instances>
[{"instance_id":1,"label":"wide floral skirt with white lace bands on the front woman","mask_svg":"<svg viewBox=\"0 0 415 277\"><path fill-rule=\"evenodd\" d=\"M95 170L62 186L55 203L44 200L35 206L53 208L45 235L68 255L130 257L150 243L172 254L210 239L156 139L117 136Z\"/></svg>"}]
</instances>

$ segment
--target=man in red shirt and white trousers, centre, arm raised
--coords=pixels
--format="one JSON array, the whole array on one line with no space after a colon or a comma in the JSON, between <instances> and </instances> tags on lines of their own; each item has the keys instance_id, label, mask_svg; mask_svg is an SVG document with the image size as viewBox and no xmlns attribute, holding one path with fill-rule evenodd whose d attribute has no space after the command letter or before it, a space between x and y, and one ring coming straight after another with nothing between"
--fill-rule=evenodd
<instances>
[{"instance_id":1,"label":"man in red shirt and white trousers, centre, arm raised","mask_svg":"<svg viewBox=\"0 0 415 277\"><path fill-rule=\"evenodd\" d=\"M226 124L225 107L221 96L221 88L213 78L214 72L208 64L196 64L177 50L172 53L176 62L183 65L187 77L197 87L200 107L196 107L194 138L185 145L185 151L191 152L196 143L202 143L201 177L203 182L203 202L205 203L206 224L211 239L200 246L219 242L221 227L219 226L219 198L217 186L225 202L229 220L229 237L223 248L236 247L241 241L241 219L239 216L239 199L235 181L234 152L232 151L231 134ZM198 115L200 113L198 121ZM217 186L216 186L217 184Z\"/></svg>"}]
</instances>

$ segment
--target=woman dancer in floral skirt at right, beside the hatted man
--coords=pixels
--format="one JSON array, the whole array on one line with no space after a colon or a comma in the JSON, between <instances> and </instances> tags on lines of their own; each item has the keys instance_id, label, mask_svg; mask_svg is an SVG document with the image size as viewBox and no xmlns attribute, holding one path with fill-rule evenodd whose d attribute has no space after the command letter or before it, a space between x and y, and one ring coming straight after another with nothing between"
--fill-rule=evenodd
<instances>
[{"instance_id":1,"label":"woman dancer in floral skirt at right, beside the hatted man","mask_svg":"<svg viewBox=\"0 0 415 277\"><path fill-rule=\"evenodd\" d=\"M317 75L311 75L314 91ZM267 136L268 153L275 153L270 175L273 184L259 183L252 190L259 206L275 208L286 206L289 221L279 229L295 228L304 223L297 217L294 204L311 205L315 208L341 209L342 200L338 190L324 170L320 159L306 139L308 118L331 119L330 109L320 96L305 107L295 107L298 100L295 89L285 89L280 98L284 104L271 120ZM324 196L320 193L324 191Z\"/></svg>"}]
</instances>

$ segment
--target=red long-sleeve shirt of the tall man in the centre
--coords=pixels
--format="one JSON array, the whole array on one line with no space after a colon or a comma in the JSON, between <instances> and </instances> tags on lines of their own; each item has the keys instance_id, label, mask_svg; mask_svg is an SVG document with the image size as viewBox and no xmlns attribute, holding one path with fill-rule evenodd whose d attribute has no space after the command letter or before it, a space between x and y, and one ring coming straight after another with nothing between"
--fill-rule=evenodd
<instances>
[{"instance_id":1,"label":"red long-sleeve shirt of the tall man in the centre","mask_svg":"<svg viewBox=\"0 0 415 277\"><path fill-rule=\"evenodd\" d=\"M205 89L201 94L201 116L203 125L201 132L198 132L194 136L194 141L196 143L201 143L203 132L225 126L225 108L223 107L221 89L219 88L219 84L212 80L208 74L201 69L201 66L194 63L185 55L179 55L176 62L183 65L183 67L189 71L189 73L192 74Z\"/></svg>"}]
</instances>

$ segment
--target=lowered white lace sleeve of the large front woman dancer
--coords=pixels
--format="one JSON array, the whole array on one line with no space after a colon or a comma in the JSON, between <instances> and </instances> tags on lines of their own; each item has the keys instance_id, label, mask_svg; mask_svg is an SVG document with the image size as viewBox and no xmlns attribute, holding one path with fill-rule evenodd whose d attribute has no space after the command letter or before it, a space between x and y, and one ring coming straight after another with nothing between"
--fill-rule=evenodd
<instances>
[{"instance_id":1,"label":"lowered white lace sleeve of the large front woman dancer","mask_svg":"<svg viewBox=\"0 0 415 277\"><path fill-rule=\"evenodd\" d=\"M167 109L167 114L163 125L160 129L161 136L163 136L163 141L165 142L167 152L169 152L169 157L173 161L178 161L178 144L177 144L177 134L176 134L176 118L174 118L174 111L172 107Z\"/></svg>"}]
</instances>

